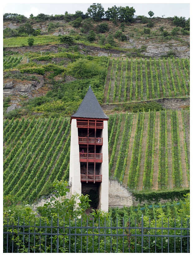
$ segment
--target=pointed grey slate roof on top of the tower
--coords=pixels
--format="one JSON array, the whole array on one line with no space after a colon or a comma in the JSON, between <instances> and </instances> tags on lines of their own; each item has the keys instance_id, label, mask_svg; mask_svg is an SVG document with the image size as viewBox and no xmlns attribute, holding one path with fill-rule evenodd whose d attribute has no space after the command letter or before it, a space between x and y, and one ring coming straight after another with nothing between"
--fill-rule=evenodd
<instances>
[{"instance_id":1,"label":"pointed grey slate roof on top of the tower","mask_svg":"<svg viewBox=\"0 0 193 256\"><path fill-rule=\"evenodd\" d=\"M91 86L89 86L89 89L84 96L84 99L82 100L78 110L71 116L71 118L73 117L109 119L98 103L96 96L91 89Z\"/></svg>"}]
</instances>

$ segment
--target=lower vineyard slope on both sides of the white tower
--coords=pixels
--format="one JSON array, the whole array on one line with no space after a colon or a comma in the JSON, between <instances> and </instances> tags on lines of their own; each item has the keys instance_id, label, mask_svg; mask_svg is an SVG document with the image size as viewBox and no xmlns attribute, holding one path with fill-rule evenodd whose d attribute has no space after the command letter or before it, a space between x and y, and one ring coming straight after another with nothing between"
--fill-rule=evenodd
<instances>
[{"instance_id":1,"label":"lower vineyard slope on both sides of the white tower","mask_svg":"<svg viewBox=\"0 0 193 256\"><path fill-rule=\"evenodd\" d=\"M109 116L109 175L132 190L167 190L190 184L190 111ZM4 195L34 201L68 179L69 118L4 121Z\"/></svg>"}]
</instances>

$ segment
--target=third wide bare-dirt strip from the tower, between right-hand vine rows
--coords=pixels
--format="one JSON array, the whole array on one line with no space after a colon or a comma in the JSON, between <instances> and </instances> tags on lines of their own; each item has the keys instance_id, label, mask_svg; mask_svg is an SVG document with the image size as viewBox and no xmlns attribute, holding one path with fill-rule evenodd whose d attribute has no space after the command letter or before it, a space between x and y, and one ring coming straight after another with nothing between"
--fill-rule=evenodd
<instances>
[{"instance_id":1,"label":"third wide bare-dirt strip from the tower, between right-hand vine rows","mask_svg":"<svg viewBox=\"0 0 193 256\"><path fill-rule=\"evenodd\" d=\"M155 145L154 145L154 163L153 163L153 179L152 189L158 190L158 172L159 172L159 112L155 116Z\"/></svg>"}]
</instances>

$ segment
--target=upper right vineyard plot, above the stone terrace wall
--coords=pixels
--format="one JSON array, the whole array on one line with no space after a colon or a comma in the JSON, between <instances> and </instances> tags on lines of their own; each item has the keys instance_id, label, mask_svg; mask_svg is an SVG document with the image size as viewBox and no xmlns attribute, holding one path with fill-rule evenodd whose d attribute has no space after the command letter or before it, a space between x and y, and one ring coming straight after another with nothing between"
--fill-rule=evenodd
<instances>
[{"instance_id":1,"label":"upper right vineyard plot, above the stone terrace wall","mask_svg":"<svg viewBox=\"0 0 193 256\"><path fill-rule=\"evenodd\" d=\"M190 60L110 59L104 103L190 96Z\"/></svg>"}]
</instances>

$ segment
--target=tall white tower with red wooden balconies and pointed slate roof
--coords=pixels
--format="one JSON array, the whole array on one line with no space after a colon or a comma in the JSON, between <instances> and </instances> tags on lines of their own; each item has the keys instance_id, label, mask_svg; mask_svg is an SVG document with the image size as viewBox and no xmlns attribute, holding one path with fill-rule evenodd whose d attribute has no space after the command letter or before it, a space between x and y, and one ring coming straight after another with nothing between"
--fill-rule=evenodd
<instances>
[{"instance_id":1,"label":"tall white tower with red wooden balconies and pointed slate roof","mask_svg":"<svg viewBox=\"0 0 193 256\"><path fill-rule=\"evenodd\" d=\"M109 206L108 119L89 86L70 120L69 181L72 194L96 191L97 208L106 212Z\"/></svg>"}]
</instances>

